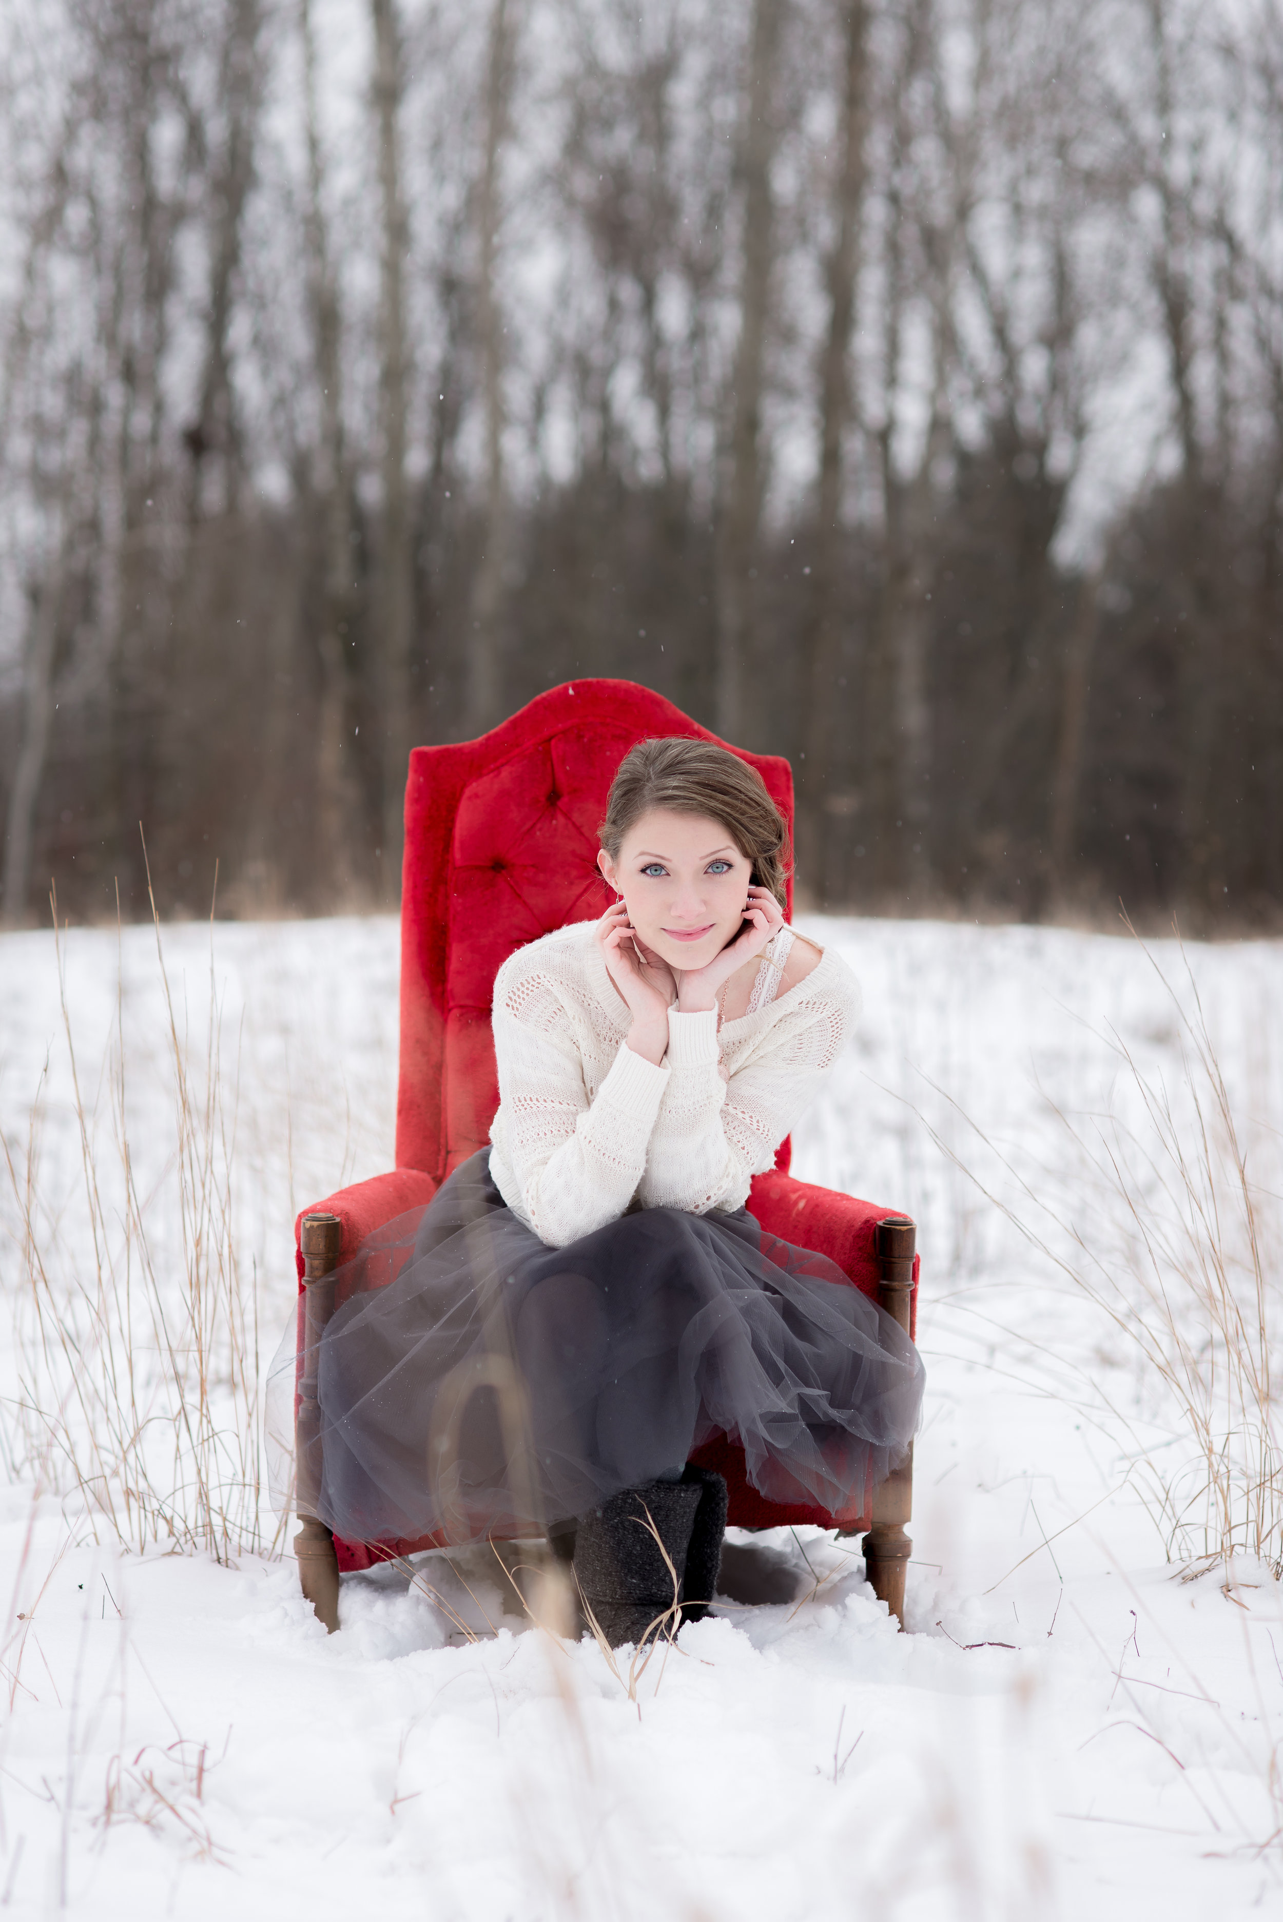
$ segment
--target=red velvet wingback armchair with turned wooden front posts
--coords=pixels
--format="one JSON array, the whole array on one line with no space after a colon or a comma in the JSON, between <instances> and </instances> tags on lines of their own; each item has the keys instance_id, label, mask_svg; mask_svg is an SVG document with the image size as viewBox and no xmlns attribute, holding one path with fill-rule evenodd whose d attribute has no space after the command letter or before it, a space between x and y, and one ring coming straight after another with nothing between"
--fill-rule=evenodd
<instances>
[{"instance_id":1,"label":"red velvet wingback armchair with turned wooden front posts","mask_svg":"<svg viewBox=\"0 0 1283 1922\"><path fill-rule=\"evenodd\" d=\"M480 740L415 748L405 788L401 882L401 1053L396 1169L305 1209L296 1224L302 1349L334 1307L332 1270L375 1228L432 1199L461 1161L490 1140L499 1105L490 1001L499 963L524 942L570 921L595 921L609 899L597 873L597 825L615 769L638 742L665 734L714 740L680 709L630 680L574 680L538 696ZM741 750L734 750L739 753ZM743 753L793 823L793 776L776 755ZM791 905L791 888L789 888ZM830 1255L855 1288L880 1299L914 1332L918 1263L914 1224L868 1201L797 1182L789 1144L753 1182L749 1209L774 1234ZM392 1276L388 1276L392 1278ZM315 1363L313 1363L315 1367ZM315 1376L300 1380L300 1443L315 1440ZM303 1447L298 1451L303 1461ZM730 1522L834 1526L811 1507L780 1507L749 1484L743 1453L726 1436L695 1461L730 1488ZM880 1488L853 1488L837 1526L868 1530L868 1580L903 1620L910 1551L912 1463ZM300 1482L296 1551L303 1591L327 1628L338 1626L338 1572L444 1545L344 1541L307 1513Z\"/></svg>"}]
</instances>

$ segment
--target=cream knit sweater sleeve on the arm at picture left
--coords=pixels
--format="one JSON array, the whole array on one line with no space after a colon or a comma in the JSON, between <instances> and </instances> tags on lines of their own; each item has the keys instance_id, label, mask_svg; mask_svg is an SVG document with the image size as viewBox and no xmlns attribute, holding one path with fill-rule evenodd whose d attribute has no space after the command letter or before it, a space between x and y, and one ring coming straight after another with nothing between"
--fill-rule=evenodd
<instances>
[{"instance_id":1,"label":"cream knit sweater sleeve on the arm at picture left","mask_svg":"<svg viewBox=\"0 0 1283 1922\"><path fill-rule=\"evenodd\" d=\"M492 1011L503 1147L524 1215L549 1247L624 1213L668 1082L668 1069L620 1042L590 1101L563 988L551 967L505 963Z\"/></svg>"}]
</instances>

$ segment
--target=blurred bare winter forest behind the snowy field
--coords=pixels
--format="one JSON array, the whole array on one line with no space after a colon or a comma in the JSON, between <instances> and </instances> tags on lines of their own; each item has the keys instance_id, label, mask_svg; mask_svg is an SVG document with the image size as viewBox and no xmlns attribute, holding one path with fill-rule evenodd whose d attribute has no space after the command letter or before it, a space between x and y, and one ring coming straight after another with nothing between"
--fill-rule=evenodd
<instances>
[{"instance_id":1,"label":"blurred bare winter forest behind the snowy field","mask_svg":"<svg viewBox=\"0 0 1283 1922\"><path fill-rule=\"evenodd\" d=\"M1283 903L1279 0L4 0L10 923L392 905L576 675L812 905Z\"/></svg>"}]
</instances>

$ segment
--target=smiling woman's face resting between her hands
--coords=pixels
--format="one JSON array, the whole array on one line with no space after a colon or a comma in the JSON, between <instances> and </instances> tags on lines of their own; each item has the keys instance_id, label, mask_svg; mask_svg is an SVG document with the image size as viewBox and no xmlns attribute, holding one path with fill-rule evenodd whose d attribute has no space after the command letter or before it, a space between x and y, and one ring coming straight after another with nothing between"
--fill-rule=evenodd
<instances>
[{"instance_id":1,"label":"smiling woman's face resting between her hands","mask_svg":"<svg viewBox=\"0 0 1283 1922\"><path fill-rule=\"evenodd\" d=\"M753 865L720 821L655 807L628 828L618 861L603 848L597 865L668 967L705 967L739 932Z\"/></svg>"}]
</instances>

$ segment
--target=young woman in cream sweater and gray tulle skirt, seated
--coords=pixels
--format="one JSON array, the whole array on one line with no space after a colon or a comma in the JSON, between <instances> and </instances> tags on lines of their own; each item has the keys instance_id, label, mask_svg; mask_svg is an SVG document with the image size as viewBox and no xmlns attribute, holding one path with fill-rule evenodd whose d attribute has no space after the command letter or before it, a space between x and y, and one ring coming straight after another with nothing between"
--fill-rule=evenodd
<instances>
[{"instance_id":1,"label":"young woman in cream sweater and gray tulle skirt, seated","mask_svg":"<svg viewBox=\"0 0 1283 1922\"><path fill-rule=\"evenodd\" d=\"M747 1213L859 1011L784 923L787 830L707 742L624 757L615 903L494 986L492 1146L357 1255L319 1355L317 1515L355 1540L547 1530L615 1643L705 1613L726 1486L830 1513L903 1455L922 1363L824 1255ZM399 1272L398 1272L399 1270Z\"/></svg>"}]
</instances>

